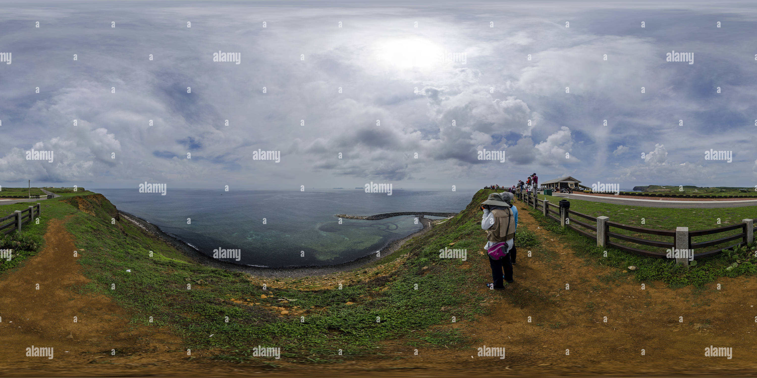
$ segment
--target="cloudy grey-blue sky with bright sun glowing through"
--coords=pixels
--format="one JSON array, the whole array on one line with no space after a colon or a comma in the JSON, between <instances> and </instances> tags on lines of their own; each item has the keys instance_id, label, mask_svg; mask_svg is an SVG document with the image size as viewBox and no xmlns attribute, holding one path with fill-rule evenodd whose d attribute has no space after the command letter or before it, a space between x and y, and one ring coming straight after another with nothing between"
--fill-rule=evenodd
<instances>
[{"instance_id":1,"label":"cloudy grey-blue sky with bright sun glowing through","mask_svg":"<svg viewBox=\"0 0 757 378\"><path fill-rule=\"evenodd\" d=\"M755 8L2 2L0 185L755 187Z\"/></svg>"}]
</instances>

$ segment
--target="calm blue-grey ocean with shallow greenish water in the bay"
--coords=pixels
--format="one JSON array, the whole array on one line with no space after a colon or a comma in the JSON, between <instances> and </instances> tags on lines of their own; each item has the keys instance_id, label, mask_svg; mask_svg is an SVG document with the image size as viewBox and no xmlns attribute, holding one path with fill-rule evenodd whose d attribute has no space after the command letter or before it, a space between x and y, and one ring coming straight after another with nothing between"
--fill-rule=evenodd
<instances>
[{"instance_id":1,"label":"calm blue-grey ocean with shallow greenish water in the bay","mask_svg":"<svg viewBox=\"0 0 757 378\"><path fill-rule=\"evenodd\" d=\"M378 221L343 218L340 224L336 214L459 212L476 192L394 190L388 196L362 188L226 192L169 187L163 196L136 188L92 191L201 253L238 249L238 256L221 260L266 268L350 262L422 228L412 215Z\"/></svg>"}]
</instances>

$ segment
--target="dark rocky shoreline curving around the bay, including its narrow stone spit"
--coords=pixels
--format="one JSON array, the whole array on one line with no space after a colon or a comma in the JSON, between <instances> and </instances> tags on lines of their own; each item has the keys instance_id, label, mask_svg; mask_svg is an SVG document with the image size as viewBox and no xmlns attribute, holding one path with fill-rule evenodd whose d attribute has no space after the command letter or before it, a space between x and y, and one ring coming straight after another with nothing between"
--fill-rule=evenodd
<instances>
[{"instance_id":1,"label":"dark rocky shoreline curving around the bay, including its narrow stone spit","mask_svg":"<svg viewBox=\"0 0 757 378\"><path fill-rule=\"evenodd\" d=\"M234 264L232 262L223 262L216 259L213 259L204 253L201 253L198 251L198 249L195 249L195 247L190 246L188 243L185 243L184 241L173 237L173 235L167 234L165 231L160 230L159 227L156 225L153 225L150 222L145 221L145 219L139 218L136 215L129 214L128 212L122 212L119 210L119 215L129 222L134 223L135 225L138 225L139 228L142 228L146 232L153 234L155 237L157 237L160 240L163 240L165 243L170 244L174 248L178 249L180 252L184 253L185 256L188 256L190 259L194 260L195 262L198 262L198 264L209 266L212 268L219 268L219 269L226 269L229 271L241 271L244 273L248 273L254 276L259 277L311 277L315 275L324 275L324 274L331 274L338 271L349 271L352 269L360 268L363 265L368 264L369 262L373 262L378 259L382 259L383 257L390 255L391 253L394 253L397 251L397 249L400 249L400 246L405 243L405 241L410 240L412 237L416 237L420 234L425 234L428 230L431 229L431 220L420 217L420 222L423 225L423 228L417 232L414 232L413 234L408 235L407 237L403 237L402 239L392 240L391 242L387 243L385 246L382 247L382 249L379 249L381 251L382 257L376 257L375 254L370 254L368 256L363 256L360 259L353 260L351 262L345 262L343 264L338 265L329 265L329 266L305 266L305 267L294 267L294 268L260 268L260 267L254 267L254 266L248 266L248 265L239 265ZM379 214L379 215L370 215L370 217L365 218L353 218L353 219L383 219L383 218L389 218L391 216L397 216L397 215L435 215L435 216L452 216L457 215L457 213L447 213L447 212L390 212L388 214L394 214L389 216L382 216L382 218L370 218L385 214ZM444 215L444 214L451 214L451 215ZM342 216L342 218L348 218L348 217L358 217L360 215L346 215Z\"/></svg>"}]
</instances>

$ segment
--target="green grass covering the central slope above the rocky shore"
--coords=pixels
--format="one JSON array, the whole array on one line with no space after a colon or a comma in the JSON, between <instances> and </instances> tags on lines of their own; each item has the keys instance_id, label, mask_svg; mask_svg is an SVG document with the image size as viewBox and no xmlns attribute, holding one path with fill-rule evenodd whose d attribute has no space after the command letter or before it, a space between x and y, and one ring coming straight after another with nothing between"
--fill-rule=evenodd
<instances>
[{"instance_id":1,"label":"green grass covering the central slope above the rocky shore","mask_svg":"<svg viewBox=\"0 0 757 378\"><path fill-rule=\"evenodd\" d=\"M268 291L252 286L245 274L182 259L173 247L148 237L123 219L111 225L115 209L109 203L98 203L94 196L83 199L96 209L96 216L76 212L67 229L76 237L76 246L85 251L79 262L92 283L77 290L112 296L132 311L133 322L170 325L183 336L187 349L212 349L215 358L256 360L251 349L264 345L282 347L288 361L341 361L378 354L382 342L400 338L407 345L462 348L466 339L458 331L428 328L452 324L453 317L457 324L469 324L484 314L469 294L482 287L483 280L461 272L459 259L438 257L438 250L448 243L456 242L456 248L474 252L483 246L485 237L476 222L480 216L476 206L469 206L466 215L432 228L394 253L393 258L406 253L411 257L388 280L389 290L381 290L387 284L387 280L381 280L345 286L343 290L269 289L273 298L260 299L261 294L269 295ZM488 266L485 259L469 253L468 262ZM424 266L430 268L422 271ZM116 290L111 290L113 283ZM191 290L187 290L188 283ZM299 316L279 318L260 306L229 301L253 299L275 305L280 297L297 299L281 307L291 311L294 305L314 306L312 314L305 315L303 323ZM154 323L148 323L150 316ZM225 322L227 316L229 323ZM338 349L343 355L337 355Z\"/></svg>"}]
</instances>

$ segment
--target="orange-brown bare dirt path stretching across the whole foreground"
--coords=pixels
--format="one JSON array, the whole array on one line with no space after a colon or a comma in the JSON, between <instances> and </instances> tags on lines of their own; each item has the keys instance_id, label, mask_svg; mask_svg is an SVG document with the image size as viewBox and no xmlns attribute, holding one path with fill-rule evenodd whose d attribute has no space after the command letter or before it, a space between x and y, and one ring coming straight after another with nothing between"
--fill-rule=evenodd
<instances>
[{"instance_id":1,"label":"orange-brown bare dirt path stretching across the whole foreground","mask_svg":"<svg viewBox=\"0 0 757 378\"><path fill-rule=\"evenodd\" d=\"M491 314L460 327L473 349L419 349L386 342L384 357L344 364L282 364L270 369L204 358L189 361L179 338L157 327L129 325L126 311L106 296L79 294L88 280L73 258L73 240L52 221L45 249L0 281L0 373L12 376L470 376L679 375L752 373L757 368L755 278L718 280L701 293L640 283L631 275L606 280L615 268L587 265L559 237L537 228L523 209L519 227L534 231L551 256L519 249L516 283L481 288ZM533 253L539 253L534 249ZM83 251L86 253L86 251ZM462 269L491 280L485 256ZM39 283L39 290L36 284ZM565 290L565 283L570 289ZM73 289L73 290L72 290ZM472 296L474 293L466 293ZM73 323L73 317L79 321ZM531 323L528 317L531 317ZM605 323L603 317L607 316ZM683 323L678 317L684 318ZM11 323L12 321L12 323ZM67 337L71 335L71 337ZM55 358L26 357L31 345L54 347ZM506 358L481 358L478 346L506 347ZM733 359L705 357L704 348L733 348ZM111 356L111 349L118 354ZM569 349L566 355L565 349ZM641 355L645 349L646 355ZM68 351L68 352L66 352ZM203 357L203 352L193 352Z\"/></svg>"}]
</instances>

